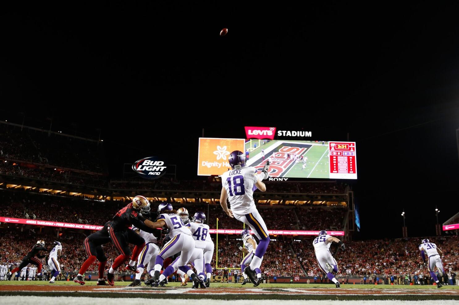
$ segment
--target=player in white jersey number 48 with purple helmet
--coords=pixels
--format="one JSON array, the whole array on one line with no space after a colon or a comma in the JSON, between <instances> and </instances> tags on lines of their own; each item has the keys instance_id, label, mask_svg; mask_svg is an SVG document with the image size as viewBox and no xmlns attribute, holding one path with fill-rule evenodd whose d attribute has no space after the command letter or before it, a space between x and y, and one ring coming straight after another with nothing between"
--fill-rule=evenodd
<instances>
[{"instance_id":1,"label":"player in white jersey number 48 with purple helmet","mask_svg":"<svg viewBox=\"0 0 459 305\"><path fill-rule=\"evenodd\" d=\"M212 261L213 256L213 241L210 237L209 233L209 226L204 224L204 220L206 220L206 214L202 211L197 211L193 217L193 221L188 223L187 226L190 227L191 236L195 240L196 248L202 249L203 257L204 257L204 268L202 273L199 273L198 276L206 279L206 287L210 287L210 278L212 277L212 267L210 266L210 262ZM196 262L195 262L196 268ZM196 269L198 271L198 269Z\"/></svg>"}]
</instances>

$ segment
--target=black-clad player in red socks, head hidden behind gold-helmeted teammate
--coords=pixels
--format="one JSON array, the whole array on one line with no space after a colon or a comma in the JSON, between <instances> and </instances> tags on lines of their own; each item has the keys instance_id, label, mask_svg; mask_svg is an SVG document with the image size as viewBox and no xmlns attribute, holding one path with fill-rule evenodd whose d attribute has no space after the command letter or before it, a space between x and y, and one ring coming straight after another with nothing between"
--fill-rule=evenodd
<instances>
[{"instance_id":1,"label":"black-clad player in red socks, head hidden behind gold-helmeted teammate","mask_svg":"<svg viewBox=\"0 0 459 305\"><path fill-rule=\"evenodd\" d=\"M83 265L78 272L78 275L73 279L73 282L84 285L84 272L92 265L92 263L97 259L99 261L99 279L97 281L98 286L107 286L108 283L104 280L104 271L105 265L107 262L107 257L105 256L104 249L102 245L105 245L112 240L108 235L108 229L112 225L112 221L108 221L104 224L103 228L93 234L90 234L84 239L83 245L88 258L84 261Z\"/></svg>"}]
</instances>

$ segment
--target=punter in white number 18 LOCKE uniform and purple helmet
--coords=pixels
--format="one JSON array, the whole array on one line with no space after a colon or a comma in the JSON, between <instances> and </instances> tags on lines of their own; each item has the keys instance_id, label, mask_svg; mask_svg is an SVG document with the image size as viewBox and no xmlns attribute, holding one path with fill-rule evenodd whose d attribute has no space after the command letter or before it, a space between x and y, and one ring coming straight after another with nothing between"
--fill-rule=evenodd
<instances>
[{"instance_id":1,"label":"punter in white number 18 LOCKE uniform and purple helmet","mask_svg":"<svg viewBox=\"0 0 459 305\"><path fill-rule=\"evenodd\" d=\"M262 192L266 191L266 185L262 180L268 178L269 162L266 163L260 174L257 174L257 169L254 167L246 166L246 158L238 150L229 154L228 162L231 170L222 174L223 187L220 205L229 217L246 223L260 241L250 266L245 269L247 276L255 284L257 283L255 272L260 272L262 257L269 245L269 234L253 202L253 191L256 188ZM226 204L226 199L229 200L230 209Z\"/></svg>"}]
</instances>

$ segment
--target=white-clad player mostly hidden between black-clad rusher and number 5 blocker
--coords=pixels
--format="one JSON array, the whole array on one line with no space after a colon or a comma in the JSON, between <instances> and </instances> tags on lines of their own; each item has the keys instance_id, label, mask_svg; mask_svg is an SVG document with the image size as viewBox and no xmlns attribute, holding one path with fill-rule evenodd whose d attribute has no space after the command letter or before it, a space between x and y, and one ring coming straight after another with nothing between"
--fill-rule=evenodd
<instances>
[{"instance_id":1,"label":"white-clad player mostly hidden between black-clad rusher and number 5 blocker","mask_svg":"<svg viewBox=\"0 0 459 305\"><path fill-rule=\"evenodd\" d=\"M137 259L138 273L135 273L134 282L128 285L130 287L141 285L140 277L142 276L142 273L144 272L144 268L146 265L148 265L148 268L150 269L149 273L151 272L150 274L153 275L156 256L159 253L159 247L157 245L158 240L155 235L153 235L152 233L148 233L143 230L140 230L136 227L132 227L132 229L135 232L137 232L137 234L139 234L141 237L143 237L143 239L145 240L145 246L140 252L139 258Z\"/></svg>"}]
</instances>

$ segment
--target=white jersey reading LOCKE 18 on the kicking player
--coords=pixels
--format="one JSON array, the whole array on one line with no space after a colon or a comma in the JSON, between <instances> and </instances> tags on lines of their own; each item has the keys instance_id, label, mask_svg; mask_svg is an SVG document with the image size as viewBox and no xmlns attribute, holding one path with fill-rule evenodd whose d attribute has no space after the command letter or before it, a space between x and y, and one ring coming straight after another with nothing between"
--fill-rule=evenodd
<instances>
[{"instance_id":1,"label":"white jersey reading LOCKE 18 on the kicking player","mask_svg":"<svg viewBox=\"0 0 459 305\"><path fill-rule=\"evenodd\" d=\"M252 166L230 169L222 174L222 185L226 189L233 212L248 214L256 209L252 188L257 182L257 169Z\"/></svg>"}]
</instances>

